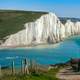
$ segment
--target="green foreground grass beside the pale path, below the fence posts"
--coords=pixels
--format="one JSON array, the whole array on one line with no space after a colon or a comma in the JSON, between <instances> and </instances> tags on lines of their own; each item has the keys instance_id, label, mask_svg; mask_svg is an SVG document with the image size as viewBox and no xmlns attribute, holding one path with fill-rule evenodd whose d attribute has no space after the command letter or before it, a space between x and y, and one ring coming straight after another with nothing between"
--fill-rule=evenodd
<instances>
[{"instance_id":1,"label":"green foreground grass beside the pale path, below the fence posts","mask_svg":"<svg viewBox=\"0 0 80 80\"><path fill-rule=\"evenodd\" d=\"M29 75L5 75L0 80L59 80L56 78L56 73L59 68L49 70L48 72L31 73Z\"/></svg>"}]
</instances>

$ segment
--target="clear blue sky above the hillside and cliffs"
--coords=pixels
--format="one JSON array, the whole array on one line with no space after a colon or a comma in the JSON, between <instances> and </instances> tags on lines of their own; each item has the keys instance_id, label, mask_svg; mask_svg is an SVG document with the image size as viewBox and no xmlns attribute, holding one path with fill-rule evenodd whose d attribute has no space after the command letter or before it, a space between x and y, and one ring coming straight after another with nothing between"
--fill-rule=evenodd
<instances>
[{"instance_id":1,"label":"clear blue sky above the hillside and cliffs","mask_svg":"<svg viewBox=\"0 0 80 80\"><path fill-rule=\"evenodd\" d=\"M0 9L49 11L80 18L80 0L0 0Z\"/></svg>"}]
</instances>

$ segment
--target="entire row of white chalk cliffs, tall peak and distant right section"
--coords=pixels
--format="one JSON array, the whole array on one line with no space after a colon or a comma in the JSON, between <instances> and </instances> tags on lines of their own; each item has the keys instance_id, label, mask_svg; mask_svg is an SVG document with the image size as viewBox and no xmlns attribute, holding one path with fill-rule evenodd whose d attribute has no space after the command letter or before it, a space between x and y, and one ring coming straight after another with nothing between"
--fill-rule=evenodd
<instances>
[{"instance_id":1,"label":"entire row of white chalk cliffs, tall peak and distant right section","mask_svg":"<svg viewBox=\"0 0 80 80\"><path fill-rule=\"evenodd\" d=\"M1 46L56 43L68 36L80 34L80 22L68 20L63 25L54 13L45 14L35 22L24 24L24 27L24 30L12 34Z\"/></svg>"}]
</instances>

